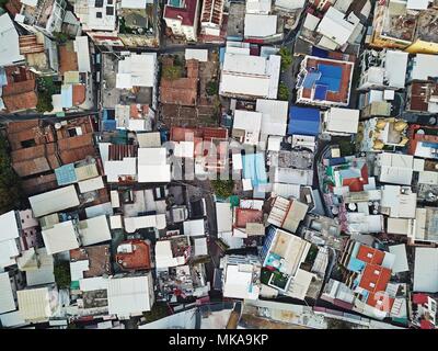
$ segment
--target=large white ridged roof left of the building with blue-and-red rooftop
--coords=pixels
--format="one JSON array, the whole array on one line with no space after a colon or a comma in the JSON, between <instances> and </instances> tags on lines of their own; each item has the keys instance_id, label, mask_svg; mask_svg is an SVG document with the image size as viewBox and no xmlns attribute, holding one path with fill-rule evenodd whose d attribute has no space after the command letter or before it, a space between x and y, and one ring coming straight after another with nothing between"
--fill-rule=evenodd
<instances>
[{"instance_id":1,"label":"large white ridged roof left of the building with blue-and-red rooftop","mask_svg":"<svg viewBox=\"0 0 438 351\"><path fill-rule=\"evenodd\" d=\"M219 94L228 98L277 99L280 57L251 56L250 48L227 44Z\"/></svg>"}]
</instances>

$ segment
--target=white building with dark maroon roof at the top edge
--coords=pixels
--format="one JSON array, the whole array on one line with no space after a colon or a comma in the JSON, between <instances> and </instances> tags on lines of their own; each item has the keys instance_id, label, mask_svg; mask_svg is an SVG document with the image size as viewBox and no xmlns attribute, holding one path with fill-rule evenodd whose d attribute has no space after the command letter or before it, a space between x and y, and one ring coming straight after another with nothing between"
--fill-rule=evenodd
<instances>
[{"instance_id":1,"label":"white building with dark maroon roof at the top edge","mask_svg":"<svg viewBox=\"0 0 438 351\"><path fill-rule=\"evenodd\" d=\"M199 0L168 0L163 19L172 34L196 42L199 21Z\"/></svg>"}]
</instances>

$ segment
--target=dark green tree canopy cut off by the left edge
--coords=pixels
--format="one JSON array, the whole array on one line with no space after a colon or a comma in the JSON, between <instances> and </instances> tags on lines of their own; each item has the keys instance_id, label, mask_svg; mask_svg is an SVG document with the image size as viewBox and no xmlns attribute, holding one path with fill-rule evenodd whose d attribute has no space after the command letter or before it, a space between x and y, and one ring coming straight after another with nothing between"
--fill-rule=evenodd
<instances>
[{"instance_id":1,"label":"dark green tree canopy cut off by the left edge","mask_svg":"<svg viewBox=\"0 0 438 351\"><path fill-rule=\"evenodd\" d=\"M22 199L20 179L11 166L8 140L0 134L0 214L19 207Z\"/></svg>"}]
</instances>

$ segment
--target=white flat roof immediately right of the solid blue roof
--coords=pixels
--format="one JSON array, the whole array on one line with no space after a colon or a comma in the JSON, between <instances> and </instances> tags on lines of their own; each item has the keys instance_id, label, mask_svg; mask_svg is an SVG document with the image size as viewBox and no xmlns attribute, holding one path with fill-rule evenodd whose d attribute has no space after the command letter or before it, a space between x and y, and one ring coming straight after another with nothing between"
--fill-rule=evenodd
<instances>
[{"instance_id":1,"label":"white flat roof immediately right of the solid blue roof","mask_svg":"<svg viewBox=\"0 0 438 351\"><path fill-rule=\"evenodd\" d=\"M323 133L330 135L356 134L359 126L359 110L330 107L323 112Z\"/></svg>"}]
</instances>

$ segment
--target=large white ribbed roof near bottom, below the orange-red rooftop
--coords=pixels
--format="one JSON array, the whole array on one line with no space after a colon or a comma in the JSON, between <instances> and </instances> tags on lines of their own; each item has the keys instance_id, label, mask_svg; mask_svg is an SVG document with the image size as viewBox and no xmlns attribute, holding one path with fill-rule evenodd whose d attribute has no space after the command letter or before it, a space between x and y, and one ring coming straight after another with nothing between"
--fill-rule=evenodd
<instances>
[{"instance_id":1,"label":"large white ribbed roof near bottom, below the orange-red rooftop","mask_svg":"<svg viewBox=\"0 0 438 351\"><path fill-rule=\"evenodd\" d=\"M154 303L152 273L113 276L108 280L108 313L129 319L151 310Z\"/></svg>"}]
</instances>

